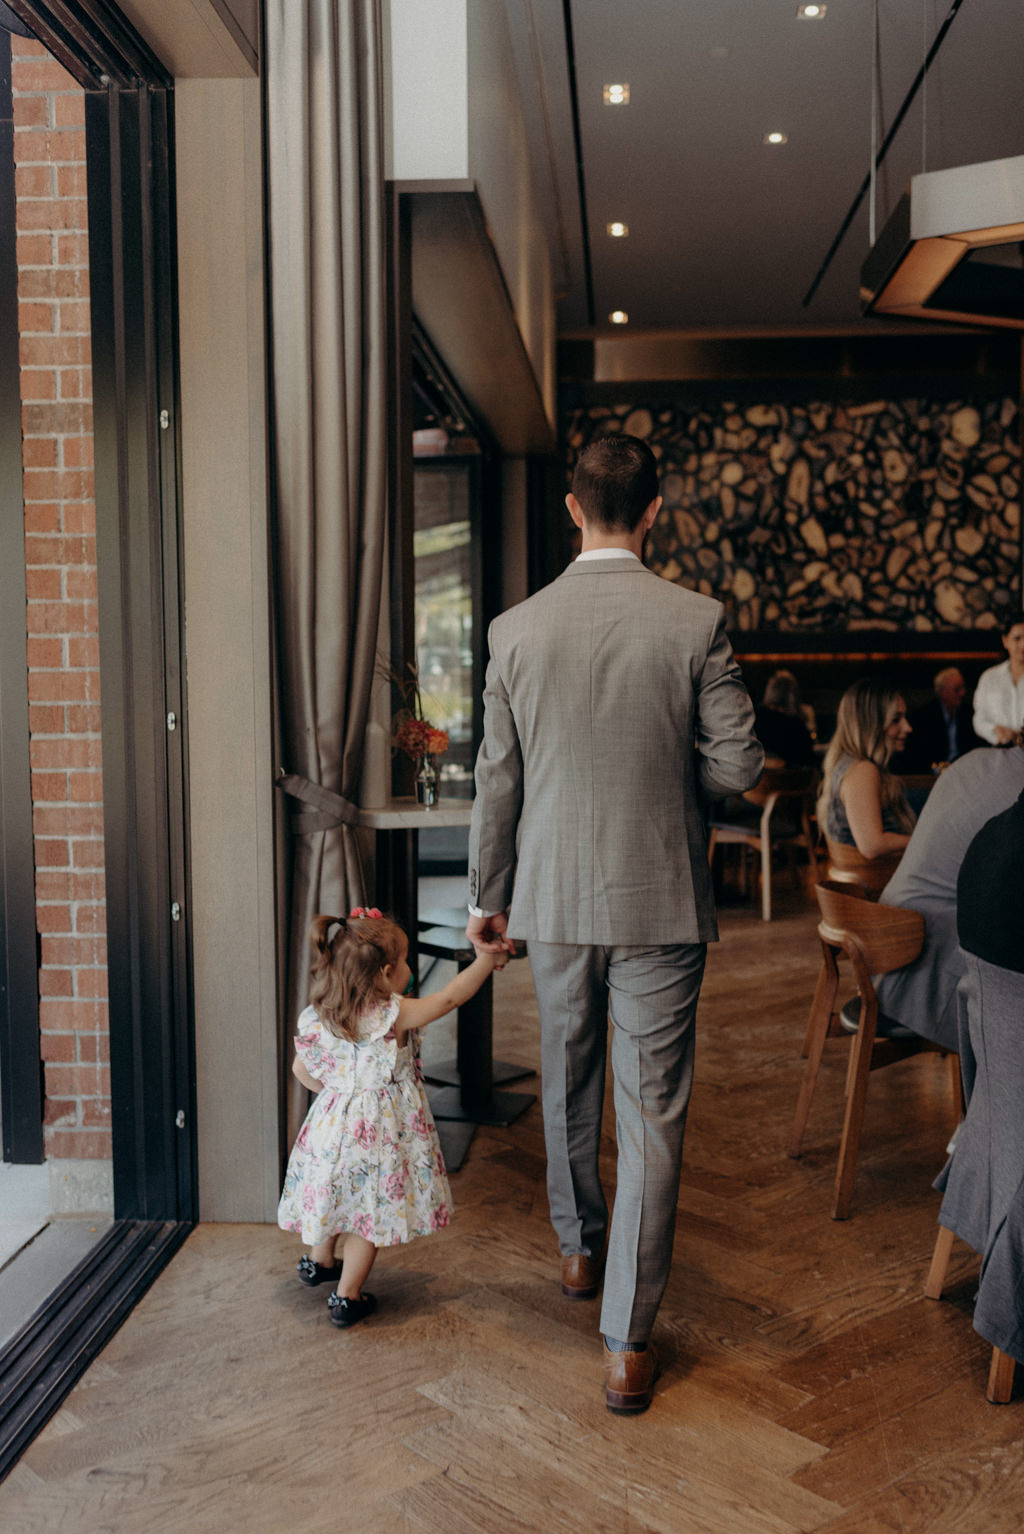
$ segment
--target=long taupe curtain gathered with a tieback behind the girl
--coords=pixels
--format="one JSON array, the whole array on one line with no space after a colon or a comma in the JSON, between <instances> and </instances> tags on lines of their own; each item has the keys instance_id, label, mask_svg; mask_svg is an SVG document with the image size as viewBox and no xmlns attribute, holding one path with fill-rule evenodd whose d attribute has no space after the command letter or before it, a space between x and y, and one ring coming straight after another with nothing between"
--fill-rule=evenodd
<instances>
[{"instance_id":1,"label":"long taupe curtain gathered with a tieback behind the girl","mask_svg":"<svg viewBox=\"0 0 1024 1534\"><path fill-rule=\"evenodd\" d=\"M279 765L356 799L386 525L380 3L267 0L265 18ZM348 827L319 811L290 828L285 1035L311 917L365 894ZM290 1138L304 1106L293 1083Z\"/></svg>"}]
</instances>

